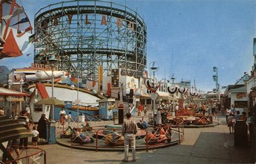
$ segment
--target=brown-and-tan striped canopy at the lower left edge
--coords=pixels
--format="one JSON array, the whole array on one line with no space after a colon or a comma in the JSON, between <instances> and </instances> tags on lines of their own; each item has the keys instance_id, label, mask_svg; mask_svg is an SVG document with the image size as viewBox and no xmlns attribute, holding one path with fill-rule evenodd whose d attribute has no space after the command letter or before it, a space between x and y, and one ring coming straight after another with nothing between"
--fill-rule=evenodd
<instances>
[{"instance_id":1,"label":"brown-and-tan striped canopy at the lower left edge","mask_svg":"<svg viewBox=\"0 0 256 164\"><path fill-rule=\"evenodd\" d=\"M6 116L0 117L0 134L0 143L33 135L23 124Z\"/></svg>"}]
</instances>

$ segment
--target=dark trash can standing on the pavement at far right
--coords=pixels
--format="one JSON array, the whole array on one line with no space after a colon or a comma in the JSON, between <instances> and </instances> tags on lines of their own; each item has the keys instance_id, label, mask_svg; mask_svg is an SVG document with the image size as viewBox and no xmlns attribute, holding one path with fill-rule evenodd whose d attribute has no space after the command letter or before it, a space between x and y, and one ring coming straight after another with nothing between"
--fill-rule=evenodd
<instances>
[{"instance_id":1,"label":"dark trash can standing on the pavement at far right","mask_svg":"<svg viewBox=\"0 0 256 164\"><path fill-rule=\"evenodd\" d=\"M234 145L247 146L247 125L242 120L237 120L234 126Z\"/></svg>"}]
</instances>

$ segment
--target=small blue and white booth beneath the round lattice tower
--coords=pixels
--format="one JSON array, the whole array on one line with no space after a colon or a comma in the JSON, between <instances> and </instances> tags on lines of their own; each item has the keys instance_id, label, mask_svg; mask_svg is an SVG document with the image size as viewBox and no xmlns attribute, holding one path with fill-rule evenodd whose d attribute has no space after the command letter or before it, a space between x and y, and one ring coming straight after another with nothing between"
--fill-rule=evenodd
<instances>
[{"instance_id":1,"label":"small blue and white booth beneath the round lattice tower","mask_svg":"<svg viewBox=\"0 0 256 164\"><path fill-rule=\"evenodd\" d=\"M115 99L102 99L96 101L99 103L99 117L106 120L112 119Z\"/></svg>"}]
</instances>

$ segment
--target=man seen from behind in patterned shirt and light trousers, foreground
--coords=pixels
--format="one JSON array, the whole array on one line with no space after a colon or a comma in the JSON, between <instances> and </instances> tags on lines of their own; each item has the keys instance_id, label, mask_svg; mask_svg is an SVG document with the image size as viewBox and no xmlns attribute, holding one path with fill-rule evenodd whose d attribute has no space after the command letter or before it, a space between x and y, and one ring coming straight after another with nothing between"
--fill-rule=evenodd
<instances>
[{"instance_id":1,"label":"man seen from behind in patterned shirt and light trousers, foreground","mask_svg":"<svg viewBox=\"0 0 256 164\"><path fill-rule=\"evenodd\" d=\"M129 144L132 148L132 161L136 161L136 138L135 134L137 133L136 122L132 120L131 113L126 114L127 120L124 121L122 126L122 134L124 135L124 162L128 162L129 157Z\"/></svg>"}]
</instances>

